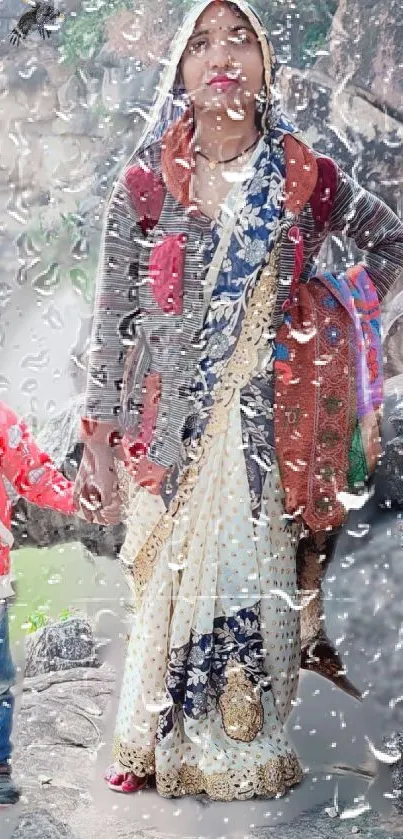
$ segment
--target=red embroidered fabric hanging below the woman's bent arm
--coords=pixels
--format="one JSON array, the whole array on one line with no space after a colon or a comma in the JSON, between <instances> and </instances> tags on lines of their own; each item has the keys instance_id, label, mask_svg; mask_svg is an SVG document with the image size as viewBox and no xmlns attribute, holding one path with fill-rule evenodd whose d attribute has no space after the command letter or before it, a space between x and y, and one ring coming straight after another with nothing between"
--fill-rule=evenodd
<instances>
[{"instance_id":1,"label":"red embroidered fabric hanging below the woman's bent arm","mask_svg":"<svg viewBox=\"0 0 403 839\"><path fill-rule=\"evenodd\" d=\"M346 441L357 416L351 321L342 306L330 310L328 298L320 283L300 284L289 308L292 330L286 321L276 335L287 359L275 362L274 411L285 508L300 513L313 531L339 527L345 519L337 495L347 489Z\"/></svg>"}]
</instances>

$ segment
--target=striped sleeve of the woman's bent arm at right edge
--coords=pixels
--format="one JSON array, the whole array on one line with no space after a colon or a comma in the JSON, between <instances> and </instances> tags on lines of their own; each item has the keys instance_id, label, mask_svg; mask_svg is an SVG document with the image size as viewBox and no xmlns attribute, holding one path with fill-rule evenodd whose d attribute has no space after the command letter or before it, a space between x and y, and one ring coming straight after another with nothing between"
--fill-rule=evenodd
<instances>
[{"instance_id":1,"label":"striped sleeve of the woman's bent arm at right edge","mask_svg":"<svg viewBox=\"0 0 403 839\"><path fill-rule=\"evenodd\" d=\"M331 233L354 239L365 252L364 267L382 300L403 274L403 225L399 218L339 169L329 228Z\"/></svg>"}]
</instances>

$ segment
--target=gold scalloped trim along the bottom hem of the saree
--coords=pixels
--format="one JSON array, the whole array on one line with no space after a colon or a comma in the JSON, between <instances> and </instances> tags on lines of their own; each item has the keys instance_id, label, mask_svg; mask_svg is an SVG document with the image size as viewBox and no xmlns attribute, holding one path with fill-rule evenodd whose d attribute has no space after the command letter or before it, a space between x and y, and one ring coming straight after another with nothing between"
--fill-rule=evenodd
<instances>
[{"instance_id":1,"label":"gold scalloped trim along the bottom hem of the saree","mask_svg":"<svg viewBox=\"0 0 403 839\"><path fill-rule=\"evenodd\" d=\"M274 798L285 795L302 779L303 772L295 754L272 758L263 766L243 770L207 774L184 764L180 770L157 771L156 776L157 791L164 798L205 793L214 801L246 800L255 796Z\"/></svg>"}]
</instances>

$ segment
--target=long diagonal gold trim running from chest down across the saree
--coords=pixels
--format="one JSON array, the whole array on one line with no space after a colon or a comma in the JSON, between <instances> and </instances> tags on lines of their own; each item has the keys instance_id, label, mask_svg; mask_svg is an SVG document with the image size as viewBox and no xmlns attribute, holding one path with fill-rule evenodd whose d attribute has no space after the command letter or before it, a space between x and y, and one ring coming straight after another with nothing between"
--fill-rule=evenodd
<instances>
[{"instance_id":1,"label":"long diagonal gold trim running from chest down across the saree","mask_svg":"<svg viewBox=\"0 0 403 839\"><path fill-rule=\"evenodd\" d=\"M198 446L192 452L192 463L183 473L179 489L168 510L159 519L135 558L134 590L138 602L151 578L156 559L172 533L175 516L188 502L217 435L226 430L235 394L249 382L258 366L259 346L267 341L267 330L271 326L276 302L279 253L280 245L277 243L256 283L235 350L223 365L222 375L213 393L214 406L210 419Z\"/></svg>"}]
</instances>

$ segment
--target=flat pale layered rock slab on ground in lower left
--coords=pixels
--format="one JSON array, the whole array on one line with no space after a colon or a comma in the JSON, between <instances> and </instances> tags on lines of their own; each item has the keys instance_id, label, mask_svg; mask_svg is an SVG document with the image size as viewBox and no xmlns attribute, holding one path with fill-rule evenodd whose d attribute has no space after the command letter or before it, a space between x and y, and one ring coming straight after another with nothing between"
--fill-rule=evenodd
<instances>
[{"instance_id":1,"label":"flat pale layered rock slab on ground in lower left","mask_svg":"<svg viewBox=\"0 0 403 839\"><path fill-rule=\"evenodd\" d=\"M68 822L77 808L88 808L101 716L114 684L107 664L25 679L13 766L30 811L46 807Z\"/></svg>"}]
</instances>

